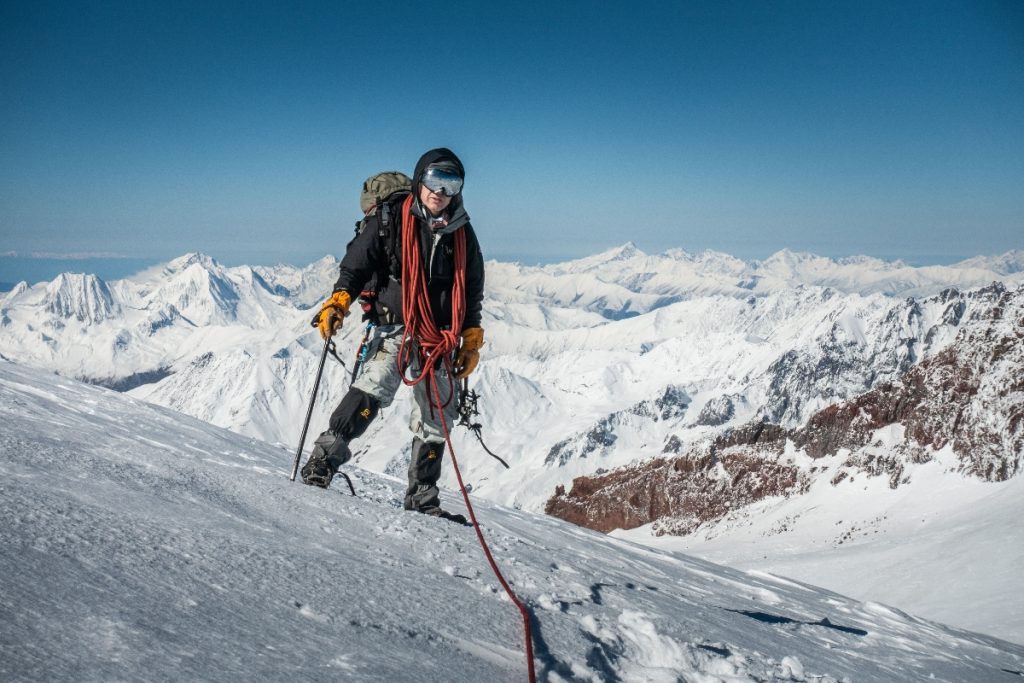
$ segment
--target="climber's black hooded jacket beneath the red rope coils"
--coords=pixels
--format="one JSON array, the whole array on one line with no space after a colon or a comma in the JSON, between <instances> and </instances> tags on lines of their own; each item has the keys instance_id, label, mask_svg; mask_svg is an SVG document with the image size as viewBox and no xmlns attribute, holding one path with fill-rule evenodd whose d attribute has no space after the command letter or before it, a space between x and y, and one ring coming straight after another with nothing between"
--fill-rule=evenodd
<instances>
[{"instance_id":1,"label":"climber's black hooded jacket beneath the red rope coils","mask_svg":"<svg viewBox=\"0 0 1024 683\"><path fill-rule=\"evenodd\" d=\"M413 196L419 197L420 181L427 166L435 163L452 165L459 175L465 177L462 162L451 150L443 147L431 150L420 158L413 173ZM344 258L341 260L341 272L334 291L348 292L352 301L358 297L362 288L375 274L379 276L377 298L393 316L393 321L403 324L401 311L401 283L396 280L400 273L401 264L401 205L406 197L401 197L390 207L391 219L388 229L380 228L380 216L368 216L366 226L348 244ZM438 329L452 324L452 286L455 282L455 238L457 230L466 233L466 315L462 327L480 327L480 315L483 306L483 255L476 232L469 223L462 204L462 193L452 198L445 211L449 217L447 225L436 232L431 230L423 216L425 210L418 201L413 203L412 212L416 216L419 228L420 251L427 273L427 294L430 297L430 308L434 313L434 325ZM389 249L385 240L393 240L391 253L397 259L397 268L389 264Z\"/></svg>"}]
</instances>

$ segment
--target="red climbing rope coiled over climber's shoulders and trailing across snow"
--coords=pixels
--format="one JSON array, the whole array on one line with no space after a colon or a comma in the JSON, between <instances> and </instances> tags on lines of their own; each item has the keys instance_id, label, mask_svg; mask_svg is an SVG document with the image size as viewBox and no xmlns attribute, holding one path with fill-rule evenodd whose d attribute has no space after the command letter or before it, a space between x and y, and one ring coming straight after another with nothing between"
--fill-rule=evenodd
<instances>
[{"instance_id":1,"label":"red climbing rope coiled over climber's shoulders and trailing across snow","mask_svg":"<svg viewBox=\"0 0 1024 683\"><path fill-rule=\"evenodd\" d=\"M452 325L447 330L438 330L434 324L433 312L430 308L430 298L427 294L427 280L423 272L423 258L420 250L419 230L416 226L416 218L410 210L413 205L412 195L406 200L401 208L401 312L406 322L406 329L402 333L401 347L398 351L398 369L401 371L402 382L409 385L419 384L427 380L430 391L432 407L440 414L441 427L444 431L444 441L447 443L449 453L452 454L452 465L455 467L455 475L459 480L459 489L462 490L462 498L466 502L466 509L469 511L469 518L473 522L476 530L476 538L480 542L480 548L490 564L498 583L505 589L505 594L509 596L512 603L519 609L522 615L522 627L526 642L526 671L529 675L529 683L536 683L537 674L534 671L534 636L529 628L529 612L519 597L515 594L505 577L502 575L498 563L495 561L490 548L487 546L483 531L480 530L480 523L476 520L476 512L473 504L469 501L469 494L466 493L466 485L462 481L462 472L459 470L459 461L455 457L455 447L452 445L452 435L449 432L447 420L444 419L444 407L455 398L455 383L452 380L452 355L459 348L459 334L462 332L462 319L466 311L466 233L459 229L455 233L455 281L452 286ZM410 368L413 355L416 355L416 366L419 368L419 376L409 378L406 370ZM449 399L441 402L440 391L437 388L437 377L435 371L443 364L449 376Z\"/></svg>"}]
</instances>

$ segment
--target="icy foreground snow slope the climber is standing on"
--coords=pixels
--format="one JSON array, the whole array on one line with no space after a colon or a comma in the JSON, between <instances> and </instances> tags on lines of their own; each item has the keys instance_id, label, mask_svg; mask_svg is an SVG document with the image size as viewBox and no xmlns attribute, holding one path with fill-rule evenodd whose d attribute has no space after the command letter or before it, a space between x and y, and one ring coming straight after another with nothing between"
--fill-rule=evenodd
<instances>
[{"instance_id":1,"label":"icy foreground snow slope the climber is standing on","mask_svg":"<svg viewBox=\"0 0 1024 683\"><path fill-rule=\"evenodd\" d=\"M471 529L289 482L290 454L0 361L0 678L524 680ZM456 494L446 492L459 509ZM1024 648L476 506L547 681L1017 680ZM949 596L956 599L956 596Z\"/></svg>"}]
</instances>

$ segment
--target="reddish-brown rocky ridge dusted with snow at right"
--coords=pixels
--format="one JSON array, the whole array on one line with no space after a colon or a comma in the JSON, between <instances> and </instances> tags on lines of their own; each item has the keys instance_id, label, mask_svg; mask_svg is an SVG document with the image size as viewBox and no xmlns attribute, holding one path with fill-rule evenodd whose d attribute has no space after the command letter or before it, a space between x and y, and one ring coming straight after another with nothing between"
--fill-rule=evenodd
<instances>
[{"instance_id":1,"label":"reddish-brown rocky ridge dusted with snow at right","mask_svg":"<svg viewBox=\"0 0 1024 683\"><path fill-rule=\"evenodd\" d=\"M655 533L686 535L754 502L799 496L816 476L831 476L838 484L864 472L887 477L896 488L908 482L909 464L928 462L946 446L970 476L1002 481L1019 474L1024 288L995 284L939 298L949 304L943 319L959 325L956 336L896 381L828 405L797 428L757 420L683 455L578 477L569 490L556 488L545 511L602 531L653 522ZM970 314L959 319L969 302ZM893 426L903 437L883 447L877 434ZM678 452L679 445L670 438L665 451ZM815 464L844 454L838 473Z\"/></svg>"}]
</instances>

